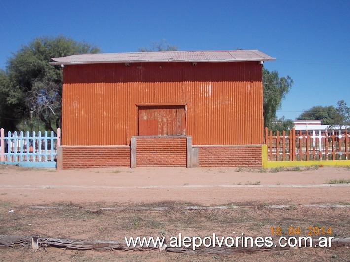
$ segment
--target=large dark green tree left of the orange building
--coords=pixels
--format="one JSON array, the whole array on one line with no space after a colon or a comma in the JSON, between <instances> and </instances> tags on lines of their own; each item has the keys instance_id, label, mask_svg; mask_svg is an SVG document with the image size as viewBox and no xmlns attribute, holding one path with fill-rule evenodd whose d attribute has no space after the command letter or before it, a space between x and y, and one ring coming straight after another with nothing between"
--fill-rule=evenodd
<instances>
[{"instance_id":1,"label":"large dark green tree left of the orange building","mask_svg":"<svg viewBox=\"0 0 350 262\"><path fill-rule=\"evenodd\" d=\"M48 62L52 57L99 51L94 45L62 35L36 38L22 46L8 60L6 71L0 76L3 82L0 94L5 97L2 102L17 115L10 123L1 118L0 125L12 131L20 120L30 119L34 114L46 130L56 131L61 118L62 68Z\"/></svg>"}]
</instances>

